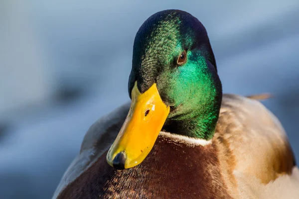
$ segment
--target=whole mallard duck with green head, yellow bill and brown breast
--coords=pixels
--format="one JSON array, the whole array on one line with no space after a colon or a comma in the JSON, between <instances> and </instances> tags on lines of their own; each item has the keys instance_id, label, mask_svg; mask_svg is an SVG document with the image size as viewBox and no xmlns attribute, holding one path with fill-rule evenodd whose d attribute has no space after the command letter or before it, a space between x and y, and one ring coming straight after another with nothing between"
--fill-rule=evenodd
<instances>
[{"instance_id":1,"label":"whole mallard duck with green head, yellow bill and brown breast","mask_svg":"<svg viewBox=\"0 0 299 199\"><path fill-rule=\"evenodd\" d=\"M90 127L53 198L299 198L281 123L252 97L222 94L191 14L160 11L140 27L129 96Z\"/></svg>"}]
</instances>

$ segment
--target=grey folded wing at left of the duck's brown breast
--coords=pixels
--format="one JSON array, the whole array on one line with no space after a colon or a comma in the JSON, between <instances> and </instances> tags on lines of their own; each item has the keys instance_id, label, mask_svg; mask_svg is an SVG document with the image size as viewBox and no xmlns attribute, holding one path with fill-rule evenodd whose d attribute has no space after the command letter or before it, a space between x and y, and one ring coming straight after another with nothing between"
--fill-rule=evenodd
<instances>
[{"instance_id":1,"label":"grey folded wing at left of the duck's brown breast","mask_svg":"<svg viewBox=\"0 0 299 199\"><path fill-rule=\"evenodd\" d=\"M64 173L53 199L109 149L126 119L129 108L130 103L126 103L91 125L82 141L80 154Z\"/></svg>"}]
</instances>

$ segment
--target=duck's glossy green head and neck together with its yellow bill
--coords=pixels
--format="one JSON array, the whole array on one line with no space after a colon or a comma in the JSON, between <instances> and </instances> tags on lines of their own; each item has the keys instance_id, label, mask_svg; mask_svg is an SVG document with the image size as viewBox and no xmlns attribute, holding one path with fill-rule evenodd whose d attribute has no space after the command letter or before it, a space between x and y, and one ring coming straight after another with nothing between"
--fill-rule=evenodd
<instances>
[{"instance_id":1,"label":"duck's glossy green head and neck together with its yellow bill","mask_svg":"<svg viewBox=\"0 0 299 199\"><path fill-rule=\"evenodd\" d=\"M201 22L181 10L150 16L138 30L129 77L128 116L107 153L116 169L140 164L161 130L210 140L222 86Z\"/></svg>"}]
</instances>

